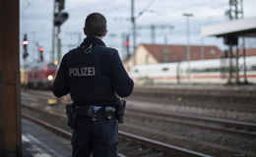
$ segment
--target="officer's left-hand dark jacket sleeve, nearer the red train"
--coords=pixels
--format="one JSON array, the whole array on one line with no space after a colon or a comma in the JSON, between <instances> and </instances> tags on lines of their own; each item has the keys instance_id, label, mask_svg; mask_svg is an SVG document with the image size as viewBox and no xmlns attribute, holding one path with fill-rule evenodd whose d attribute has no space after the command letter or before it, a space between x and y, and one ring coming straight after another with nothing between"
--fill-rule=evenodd
<instances>
[{"instance_id":1,"label":"officer's left-hand dark jacket sleeve, nearer the red train","mask_svg":"<svg viewBox=\"0 0 256 157\"><path fill-rule=\"evenodd\" d=\"M65 55L61 61L56 78L53 81L52 92L56 97L61 97L69 93L66 58L67 56Z\"/></svg>"}]
</instances>

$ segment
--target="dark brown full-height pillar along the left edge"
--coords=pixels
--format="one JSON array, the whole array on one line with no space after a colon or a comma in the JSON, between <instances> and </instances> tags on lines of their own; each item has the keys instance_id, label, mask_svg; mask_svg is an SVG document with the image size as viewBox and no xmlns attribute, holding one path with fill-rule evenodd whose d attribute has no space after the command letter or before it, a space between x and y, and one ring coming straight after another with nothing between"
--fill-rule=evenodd
<instances>
[{"instance_id":1,"label":"dark brown full-height pillar along the left edge","mask_svg":"<svg viewBox=\"0 0 256 157\"><path fill-rule=\"evenodd\" d=\"M0 1L0 156L22 156L19 0Z\"/></svg>"}]
</instances>

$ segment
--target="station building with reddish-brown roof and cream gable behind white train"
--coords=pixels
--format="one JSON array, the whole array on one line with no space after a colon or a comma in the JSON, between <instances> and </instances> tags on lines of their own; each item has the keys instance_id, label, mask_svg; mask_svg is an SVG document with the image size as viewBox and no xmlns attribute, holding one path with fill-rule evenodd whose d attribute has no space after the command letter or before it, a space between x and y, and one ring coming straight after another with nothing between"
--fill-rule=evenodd
<instances>
[{"instance_id":1,"label":"station building with reddish-brown roof and cream gable behind white train","mask_svg":"<svg viewBox=\"0 0 256 157\"><path fill-rule=\"evenodd\" d=\"M213 45L190 45L190 60L221 58L224 53ZM135 55L124 59L127 71L135 65L150 65L186 61L186 45L140 44Z\"/></svg>"}]
</instances>

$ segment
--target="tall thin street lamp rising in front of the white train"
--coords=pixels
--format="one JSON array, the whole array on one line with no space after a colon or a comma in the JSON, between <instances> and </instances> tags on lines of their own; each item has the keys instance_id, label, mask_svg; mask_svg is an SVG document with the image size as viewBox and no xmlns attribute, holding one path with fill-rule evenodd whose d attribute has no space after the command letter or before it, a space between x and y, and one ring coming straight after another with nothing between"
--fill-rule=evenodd
<instances>
[{"instance_id":1,"label":"tall thin street lamp rising in front of the white train","mask_svg":"<svg viewBox=\"0 0 256 157\"><path fill-rule=\"evenodd\" d=\"M186 45L186 60L187 60L187 72L188 72L188 82L190 83L190 47L189 47L189 18L193 17L193 14L183 13L182 16L186 17L187 23L187 45Z\"/></svg>"}]
</instances>

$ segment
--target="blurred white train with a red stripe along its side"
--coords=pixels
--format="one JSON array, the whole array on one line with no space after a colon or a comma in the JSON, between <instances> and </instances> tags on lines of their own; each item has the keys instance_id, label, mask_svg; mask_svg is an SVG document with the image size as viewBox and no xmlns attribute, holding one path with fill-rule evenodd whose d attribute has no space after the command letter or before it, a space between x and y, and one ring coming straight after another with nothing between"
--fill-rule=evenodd
<instances>
[{"instance_id":1,"label":"blurred white train with a red stripe along its side","mask_svg":"<svg viewBox=\"0 0 256 157\"><path fill-rule=\"evenodd\" d=\"M238 62L239 79L243 81L243 58L240 57ZM232 65L235 71L235 59ZM226 83L228 66L228 59L143 65L133 67L130 76L136 83ZM256 83L256 56L246 57L246 69L247 80ZM232 74L235 79L235 72Z\"/></svg>"}]
</instances>

